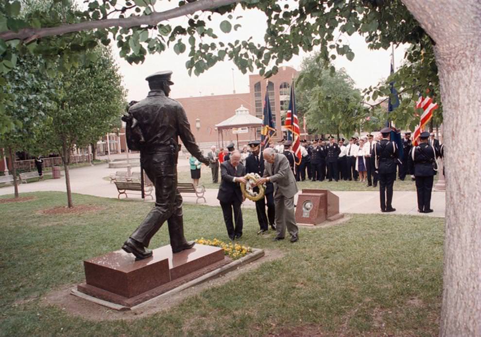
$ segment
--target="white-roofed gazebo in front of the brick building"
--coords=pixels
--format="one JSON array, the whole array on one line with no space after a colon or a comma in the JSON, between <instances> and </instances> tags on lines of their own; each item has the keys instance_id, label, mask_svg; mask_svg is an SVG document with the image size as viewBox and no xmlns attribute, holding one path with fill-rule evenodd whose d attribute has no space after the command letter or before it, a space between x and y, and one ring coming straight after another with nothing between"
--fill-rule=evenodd
<instances>
[{"instance_id":1,"label":"white-roofed gazebo in front of the brick building","mask_svg":"<svg viewBox=\"0 0 481 337\"><path fill-rule=\"evenodd\" d=\"M232 133L236 135L237 148L239 148L239 134L249 133L249 129L251 129L254 130L254 139L257 139L256 129L261 127L262 124L263 121L260 118L249 114L249 110L243 105L240 105L240 107L236 109L236 114L234 116L229 117L225 121L215 125L217 128L217 142L222 144L223 147L223 131L232 129Z\"/></svg>"}]
</instances>

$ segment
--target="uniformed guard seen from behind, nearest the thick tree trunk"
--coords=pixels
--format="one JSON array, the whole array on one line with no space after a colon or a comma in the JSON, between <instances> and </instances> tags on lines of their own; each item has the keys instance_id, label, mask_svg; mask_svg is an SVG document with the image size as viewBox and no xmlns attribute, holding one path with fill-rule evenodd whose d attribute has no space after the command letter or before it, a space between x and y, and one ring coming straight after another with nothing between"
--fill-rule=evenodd
<instances>
[{"instance_id":1,"label":"uniformed guard seen from behind, nearest the thick tree trunk","mask_svg":"<svg viewBox=\"0 0 481 337\"><path fill-rule=\"evenodd\" d=\"M434 144L429 144L429 132L419 136L421 143L414 146L409 156L409 169L416 180L417 211L431 213L431 191L434 175L438 170L436 164L437 150Z\"/></svg>"}]
</instances>

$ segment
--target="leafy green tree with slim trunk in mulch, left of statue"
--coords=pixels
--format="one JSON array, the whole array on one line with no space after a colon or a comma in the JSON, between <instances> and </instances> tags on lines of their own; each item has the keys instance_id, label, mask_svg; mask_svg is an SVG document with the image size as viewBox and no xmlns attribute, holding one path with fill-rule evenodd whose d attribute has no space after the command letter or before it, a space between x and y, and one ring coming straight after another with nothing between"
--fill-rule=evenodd
<instances>
[{"instance_id":1,"label":"leafy green tree with slim trunk in mulch, left of statue","mask_svg":"<svg viewBox=\"0 0 481 337\"><path fill-rule=\"evenodd\" d=\"M72 68L56 81L57 108L44 124L43 140L62 158L68 206L73 207L70 189L70 152L73 146L87 146L120 119L125 106L118 68L110 51L103 47L86 54L84 67Z\"/></svg>"}]
</instances>

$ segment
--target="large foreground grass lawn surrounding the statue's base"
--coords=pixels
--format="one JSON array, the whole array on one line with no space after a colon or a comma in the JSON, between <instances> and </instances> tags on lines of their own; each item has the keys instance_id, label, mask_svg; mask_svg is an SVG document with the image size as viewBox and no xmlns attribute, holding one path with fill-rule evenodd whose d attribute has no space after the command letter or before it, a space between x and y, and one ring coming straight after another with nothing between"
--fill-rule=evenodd
<instances>
[{"instance_id":1,"label":"large foreground grass lawn surrounding the statue's base","mask_svg":"<svg viewBox=\"0 0 481 337\"><path fill-rule=\"evenodd\" d=\"M290 336L299 329L319 336L438 332L441 218L353 215L339 226L303 227L300 241L291 244L256 235L255 210L245 209L240 242L281 249L283 258L189 297L168 312L134 321L89 321L44 306L42 295L82 282L83 260L119 249L152 204L73 195L75 205L104 209L44 215L38 211L64 206L65 194L21 196L36 198L0 204L1 336ZM184 221L189 239L227 238L220 207L185 205ZM168 241L167 228L162 228L151 247Z\"/></svg>"}]
</instances>

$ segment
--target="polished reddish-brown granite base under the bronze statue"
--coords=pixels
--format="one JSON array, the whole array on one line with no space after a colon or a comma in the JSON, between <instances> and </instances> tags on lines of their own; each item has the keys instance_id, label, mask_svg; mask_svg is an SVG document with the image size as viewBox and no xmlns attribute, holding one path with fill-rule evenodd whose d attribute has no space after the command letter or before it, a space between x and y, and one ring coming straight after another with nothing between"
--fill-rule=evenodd
<instances>
[{"instance_id":1,"label":"polished reddish-brown granite base under the bronze statue","mask_svg":"<svg viewBox=\"0 0 481 337\"><path fill-rule=\"evenodd\" d=\"M198 244L177 254L172 254L170 245L160 247L140 261L117 250L84 261L86 283L77 290L132 307L227 263L222 248Z\"/></svg>"}]
</instances>

